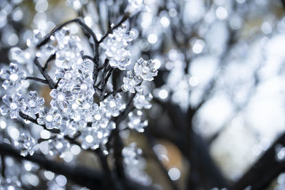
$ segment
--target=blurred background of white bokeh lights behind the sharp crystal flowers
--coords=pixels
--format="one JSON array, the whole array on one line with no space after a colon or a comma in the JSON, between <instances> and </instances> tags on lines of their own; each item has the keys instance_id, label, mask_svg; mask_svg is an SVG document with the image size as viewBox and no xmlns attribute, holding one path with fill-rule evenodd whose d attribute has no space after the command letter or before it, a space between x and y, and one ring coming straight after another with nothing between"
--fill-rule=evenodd
<instances>
[{"instance_id":1,"label":"blurred background of white bokeh lights behind the sharp crystal flowers","mask_svg":"<svg viewBox=\"0 0 285 190\"><path fill-rule=\"evenodd\" d=\"M146 112L146 135L131 130L120 133L125 144L136 142L142 149L146 176L140 182L173 189L166 172L179 189L212 189L215 184L219 189L250 189L250 185L285 189L284 1L144 3L145 11L128 22L138 35L130 51L134 58L152 58L159 75L150 85L154 99ZM122 15L123 4L115 0L0 1L1 66L10 63L11 47L26 47L33 29L49 33L58 24L82 16L102 36L108 20L118 22L116 14ZM68 27L83 36L75 23ZM87 46L88 41L83 43ZM46 100L51 99L48 93L41 89ZM55 159L100 169L93 154L78 146L73 150L69 157ZM41 152L47 154L44 149ZM269 158L261 159L268 152ZM252 170L256 166L259 172ZM56 174L39 169L25 180L31 188L75 188L64 176L56 179Z\"/></svg>"}]
</instances>

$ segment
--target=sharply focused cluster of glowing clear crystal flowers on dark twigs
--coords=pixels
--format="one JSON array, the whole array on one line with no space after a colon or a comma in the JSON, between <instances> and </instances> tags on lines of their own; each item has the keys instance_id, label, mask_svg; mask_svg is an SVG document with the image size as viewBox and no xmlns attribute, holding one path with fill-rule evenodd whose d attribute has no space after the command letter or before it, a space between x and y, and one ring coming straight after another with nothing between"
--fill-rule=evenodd
<instances>
[{"instance_id":1,"label":"sharply focused cluster of glowing clear crystal flowers on dark twigs","mask_svg":"<svg viewBox=\"0 0 285 190\"><path fill-rule=\"evenodd\" d=\"M76 6L79 1L70 2ZM80 3L84 4L83 1ZM83 41L63 26L48 36L34 30L33 37L27 40L28 48L12 48L10 58L14 63L11 63L9 69L1 70L3 87L7 94L12 94L2 98L4 105L0 107L1 114L10 114L12 119L21 116L24 120L41 125L48 132L40 136L47 143L46 154L51 157L64 159L74 142L82 149L104 149L112 130L117 127L115 117L121 117L121 113L128 110L125 104L128 94L120 93L122 90L136 93L132 99L135 110L128 111L125 114L128 118L123 120L128 122L130 129L138 132L143 132L147 126L147 120L142 121L141 109L150 109L152 95L143 91L142 83L153 80L157 70L152 60L142 58L130 65L131 55L126 48L135 38L134 31L127 31L124 23L111 27L113 31L100 42L100 47L105 50L103 58L109 60L105 62L108 65L100 64L100 58L85 55ZM43 45L39 46L41 43ZM20 69L20 65L24 69ZM106 75L112 75L113 68L125 70L128 65L134 70L126 72L123 83L119 84L122 90L113 90L113 83L108 81ZM41 73L41 77L26 78L26 73ZM28 85L36 82L48 84L51 88L50 97L46 95L46 100L39 97L39 93L33 91L36 90L33 85L22 85L23 80L31 81ZM33 90L28 91L27 88ZM19 137L14 138L14 145L21 149L22 156L32 155L36 151L38 134L35 138L32 134L19 130Z\"/></svg>"}]
</instances>

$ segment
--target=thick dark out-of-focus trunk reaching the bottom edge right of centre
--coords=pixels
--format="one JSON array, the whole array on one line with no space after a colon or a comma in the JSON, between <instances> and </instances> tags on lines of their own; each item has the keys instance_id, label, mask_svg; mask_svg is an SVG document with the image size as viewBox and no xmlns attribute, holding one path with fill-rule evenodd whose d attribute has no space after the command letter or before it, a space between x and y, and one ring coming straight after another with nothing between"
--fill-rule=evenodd
<instances>
[{"instance_id":1,"label":"thick dark out-of-focus trunk reaching the bottom edge right of centre","mask_svg":"<svg viewBox=\"0 0 285 190\"><path fill-rule=\"evenodd\" d=\"M167 105L163 103L162 105ZM171 105L168 103L168 105ZM227 187L227 180L224 179L222 172L219 170L217 165L212 160L212 157L209 154L209 149L207 144L204 142L204 139L200 137L195 132L185 132L185 127L175 127L174 125L178 124L187 125L185 121L190 119L181 119L186 117L185 113L182 113L179 107L175 109L172 106L164 107L172 120L171 123L168 123L170 126L162 127L159 122L155 122L155 125L149 125L150 132L157 138L167 139L170 142L174 143L182 152L183 156L190 162L190 176L187 179L188 189L211 189L213 187ZM190 123L191 125L191 123ZM192 127L187 127L191 129Z\"/></svg>"}]
</instances>

